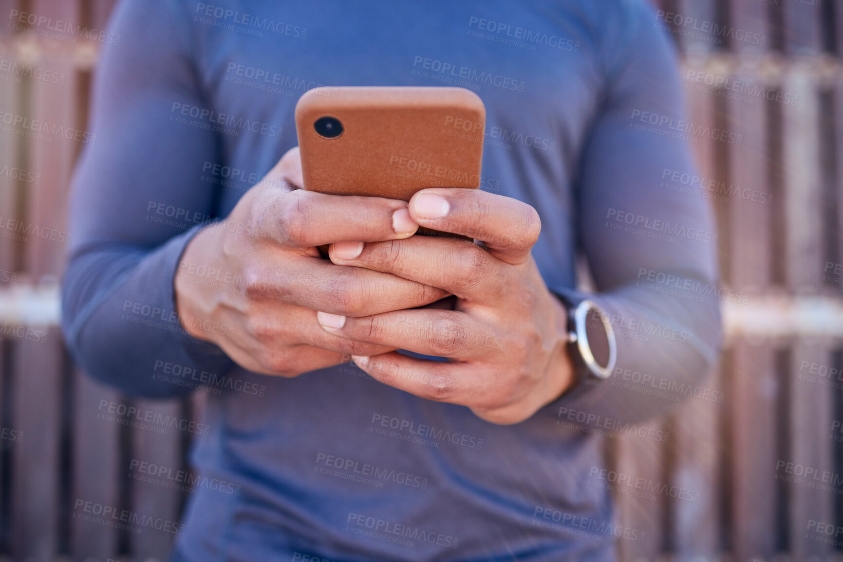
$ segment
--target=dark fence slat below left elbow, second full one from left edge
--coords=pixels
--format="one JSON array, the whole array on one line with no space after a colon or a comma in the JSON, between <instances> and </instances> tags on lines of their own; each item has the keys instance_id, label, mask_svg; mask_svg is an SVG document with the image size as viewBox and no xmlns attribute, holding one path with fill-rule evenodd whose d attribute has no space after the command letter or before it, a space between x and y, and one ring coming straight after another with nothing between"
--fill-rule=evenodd
<instances>
[{"instance_id":1,"label":"dark fence slat below left elbow, second full one from left edge","mask_svg":"<svg viewBox=\"0 0 843 562\"><path fill-rule=\"evenodd\" d=\"M120 506L120 428L98 420L100 400L118 402L118 394L83 372L74 380L73 484L71 500ZM91 522L71 519L71 550L76 559L116 558L118 532Z\"/></svg>"}]
</instances>

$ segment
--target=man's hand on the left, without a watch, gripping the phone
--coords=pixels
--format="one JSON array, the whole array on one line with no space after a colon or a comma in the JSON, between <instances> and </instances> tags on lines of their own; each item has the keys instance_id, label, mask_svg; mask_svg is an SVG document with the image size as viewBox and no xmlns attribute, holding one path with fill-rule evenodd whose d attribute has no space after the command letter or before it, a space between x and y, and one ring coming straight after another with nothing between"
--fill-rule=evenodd
<instances>
[{"instance_id":1,"label":"man's hand on the left, without a watch, gripping the phone","mask_svg":"<svg viewBox=\"0 0 843 562\"><path fill-rule=\"evenodd\" d=\"M218 345L240 367L282 377L330 367L349 356L394 351L331 335L316 310L370 316L415 308L447 292L398 276L334 265L317 247L353 252L358 242L416 232L406 201L325 195L303 185L298 147L247 191L223 222L191 240L175 276L176 308L187 332ZM212 271L212 274L208 274ZM206 321L227 335L198 328Z\"/></svg>"}]
</instances>

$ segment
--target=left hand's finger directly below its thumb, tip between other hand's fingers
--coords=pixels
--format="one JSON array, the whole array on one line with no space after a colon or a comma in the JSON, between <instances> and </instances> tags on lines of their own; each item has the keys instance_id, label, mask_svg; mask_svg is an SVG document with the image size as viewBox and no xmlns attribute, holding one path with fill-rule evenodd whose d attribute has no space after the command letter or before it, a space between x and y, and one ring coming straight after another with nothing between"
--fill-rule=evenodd
<instances>
[{"instance_id":1,"label":"left hand's finger directly below its thumb, tip between other hand's fingers","mask_svg":"<svg viewBox=\"0 0 843 562\"><path fill-rule=\"evenodd\" d=\"M448 296L447 291L438 287L379 271L334 265L328 260L302 261L292 273L279 272L284 286L272 290L284 301L312 310L342 316L370 316L421 307ZM282 268L283 264L278 267Z\"/></svg>"}]
</instances>

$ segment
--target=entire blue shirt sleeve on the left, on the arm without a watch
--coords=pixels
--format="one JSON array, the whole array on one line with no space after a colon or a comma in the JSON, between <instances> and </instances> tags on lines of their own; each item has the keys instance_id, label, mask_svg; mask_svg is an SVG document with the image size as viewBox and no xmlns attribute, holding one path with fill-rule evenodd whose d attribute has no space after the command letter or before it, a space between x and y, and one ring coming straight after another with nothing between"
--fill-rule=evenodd
<instances>
[{"instance_id":1,"label":"entire blue shirt sleeve on the left, on the arm without a watch","mask_svg":"<svg viewBox=\"0 0 843 562\"><path fill-rule=\"evenodd\" d=\"M167 365L222 372L232 364L216 345L187 335L175 313L180 256L217 199L201 180L203 166L217 161L215 133L181 113L207 106L190 29L173 0L118 5L110 31L120 39L104 46L94 80L96 142L71 187L67 345L93 377L147 398L190 392L167 377Z\"/></svg>"}]
</instances>

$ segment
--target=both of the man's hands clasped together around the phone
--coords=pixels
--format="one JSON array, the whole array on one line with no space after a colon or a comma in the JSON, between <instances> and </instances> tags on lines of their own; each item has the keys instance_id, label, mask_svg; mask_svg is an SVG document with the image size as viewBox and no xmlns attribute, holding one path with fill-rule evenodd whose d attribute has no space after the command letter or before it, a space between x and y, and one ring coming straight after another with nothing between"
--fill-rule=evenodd
<instances>
[{"instance_id":1,"label":"both of the man's hands clasped together around the phone","mask_svg":"<svg viewBox=\"0 0 843 562\"><path fill-rule=\"evenodd\" d=\"M229 324L242 327L233 336L193 335L215 341L245 368L282 376L350 355L381 383L462 404L497 424L526 420L572 384L566 313L531 254L541 228L533 207L481 190L430 188L406 204L290 184L302 184L297 149L229 215L252 236L223 226L222 242L188 246L183 261L210 260L247 279L243 295L191 298L180 288L200 289L180 286L177 276L186 318L227 313ZM483 244L413 236L416 225ZM329 243L330 262L316 249ZM425 306L448 296L452 309Z\"/></svg>"}]
</instances>

